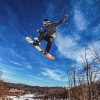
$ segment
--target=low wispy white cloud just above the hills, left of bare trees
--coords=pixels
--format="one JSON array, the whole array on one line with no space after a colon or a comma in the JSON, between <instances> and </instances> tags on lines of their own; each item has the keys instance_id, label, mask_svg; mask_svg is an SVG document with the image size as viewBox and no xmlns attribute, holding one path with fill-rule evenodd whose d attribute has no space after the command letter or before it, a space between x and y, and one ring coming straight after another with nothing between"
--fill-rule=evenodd
<instances>
[{"instance_id":1,"label":"low wispy white cloud just above the hills, left of bare trees","mask_svg":"<svg viewBox=\"0 0 100 100\"><path fill-rule=\"evenodd\" d=\"M46 68L42 72L42 75L48 76L49 78L57 81L67 81L65 73L59 70L51 70Z\"/></svg>"}]
</instances>

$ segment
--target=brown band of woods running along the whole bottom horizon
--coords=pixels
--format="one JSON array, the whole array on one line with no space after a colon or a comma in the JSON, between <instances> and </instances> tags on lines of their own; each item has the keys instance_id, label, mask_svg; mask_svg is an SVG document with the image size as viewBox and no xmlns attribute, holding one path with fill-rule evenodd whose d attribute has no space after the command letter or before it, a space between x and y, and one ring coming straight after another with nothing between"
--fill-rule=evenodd
<instances>
[{"instance_id":1,"label":"brown band of woods running along the whole bottom horizon","mask_svg":"<svg viewBox=\"0 0 100 100\"><path fill-rule=\"evenodd\" d=\"M26 87L23 88L17 88L15 87L15 84L10 87L10 83L0 82L0 97L5 97L7 95L6 90L9 89L20 89L24 90L23 94L28 93L36 93L36 97L43 98L45 100L52 99L52 100L100 100L100 81L96 81L94 83L91 83L91 99L89 97L89 87L87 84L81 84L80 86L71 87L70 89L62 88L62 87ZM13 83L12 83L13 84ZM18 85L18 84L17 84ZM17 86L16 85L16 86ZM5 87L8 86L8 87ZM22 86L18 86L22 87ZM41 96L42 95L42 96Z\"/></svg>"}]
</instances>

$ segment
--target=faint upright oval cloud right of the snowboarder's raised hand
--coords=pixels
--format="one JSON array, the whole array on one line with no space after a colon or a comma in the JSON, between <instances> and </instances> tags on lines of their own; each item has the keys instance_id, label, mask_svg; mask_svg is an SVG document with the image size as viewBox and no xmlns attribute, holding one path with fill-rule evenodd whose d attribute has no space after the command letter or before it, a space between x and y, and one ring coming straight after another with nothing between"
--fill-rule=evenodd
<instances>
[{"instance_id":1,"label":"faint upright oval cloud right of the snowboarder's raised hand","mask_svg":"<svg viewBox=\"0 0 100 100\"><path fill-rule=\"evenodd\" d=\"M87 27L87 21L83 16L83 13L78 9L74 10L74 22L79 31L85 30Z\"/></svg>"}]
</instances>

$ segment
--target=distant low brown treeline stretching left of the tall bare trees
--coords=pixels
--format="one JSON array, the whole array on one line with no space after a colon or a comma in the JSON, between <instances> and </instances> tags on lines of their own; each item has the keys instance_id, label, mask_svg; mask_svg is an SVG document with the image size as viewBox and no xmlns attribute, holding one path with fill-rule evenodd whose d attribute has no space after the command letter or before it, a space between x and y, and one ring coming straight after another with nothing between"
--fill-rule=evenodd
<instances>
[{"instance_id":1,"label":"distant low brown treeline stretching left of the tall bare trees","mask_svg":"<svg viewBox=\"0 0 100 100\"><path fill-rule=\"evenodd\" d=\"M0 97L4 98L9 93L8 90L18 89L22 90L21 95L24 94L35 94L36 97L52 99L55 98L67 98L67 89L65 87L38 87L38 86L28 86L24 84L14 84L0 81Z\"/></svg>"}]
</instances>

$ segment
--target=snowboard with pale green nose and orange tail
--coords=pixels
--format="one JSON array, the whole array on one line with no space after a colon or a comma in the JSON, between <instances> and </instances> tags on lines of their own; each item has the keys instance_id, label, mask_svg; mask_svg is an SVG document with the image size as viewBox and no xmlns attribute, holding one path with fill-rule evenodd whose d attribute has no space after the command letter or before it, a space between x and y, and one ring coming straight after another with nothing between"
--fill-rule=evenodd
<instances>
[{"instance_id":1,"label":"snowboard with pale green nose and orange tail","mask_svg":"<svg viewBox=\"0 0 100 100\"><path fill-rule=\"evenodd\" d=\"M36 48L39 52L41 52L42 54L44 54L50 60L54 60L55 59L54 56L52 56L50 53L46 53L40 46L34 45L34 40L32 40L31 37L26 37L26 41L28 43L30 43L31 45L33 45L34 48Z\"/></svg>"}]
</instances>

